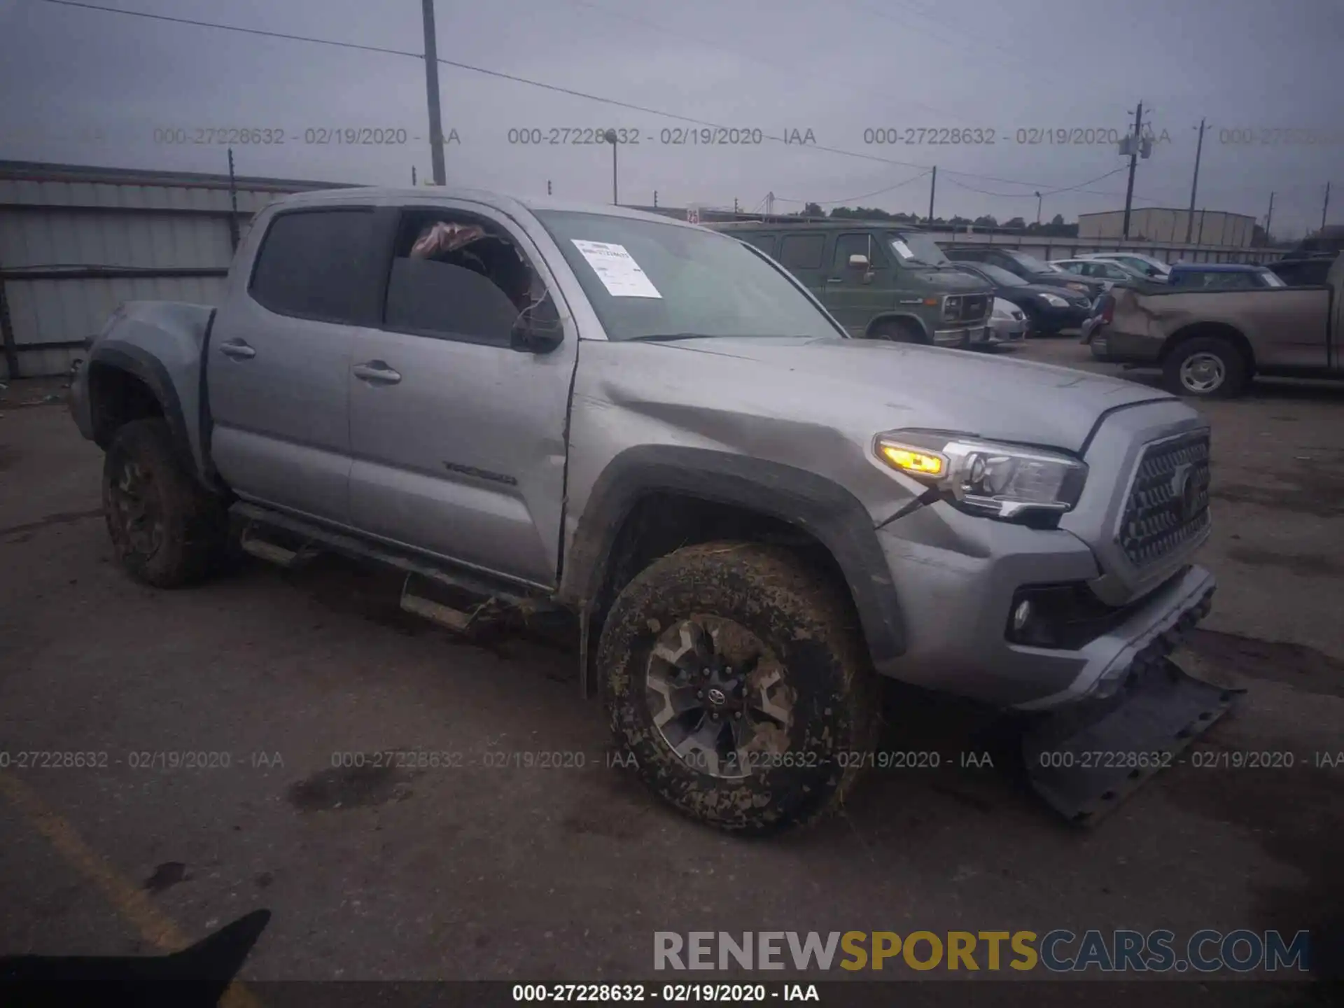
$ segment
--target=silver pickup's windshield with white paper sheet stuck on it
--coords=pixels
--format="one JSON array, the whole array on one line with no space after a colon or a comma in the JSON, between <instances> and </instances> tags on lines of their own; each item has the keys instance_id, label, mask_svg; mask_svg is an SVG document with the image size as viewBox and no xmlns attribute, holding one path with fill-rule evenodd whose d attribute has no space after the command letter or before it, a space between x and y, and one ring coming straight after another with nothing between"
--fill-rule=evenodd
<instances>
[{"instance_id":1,"label":"silver pickup's windshield with white paper sheet stuck on it","mask_svg":"<svg viewBox=\"0 0 1344 1008\"><path fill-rule=\"evenodd\" d=\"M607 214L536 216L610 340L844 335L737 238Z\"/></svg>"}]
</instances>

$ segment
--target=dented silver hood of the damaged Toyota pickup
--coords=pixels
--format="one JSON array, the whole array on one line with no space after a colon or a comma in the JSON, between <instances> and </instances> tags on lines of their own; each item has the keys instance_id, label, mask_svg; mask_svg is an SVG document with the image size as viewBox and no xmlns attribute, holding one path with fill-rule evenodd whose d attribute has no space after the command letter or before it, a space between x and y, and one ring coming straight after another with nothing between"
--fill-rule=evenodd
<instances>
[{"instance_id":1,"label":"dented silver hood of the damaged Toyota pickup","mask_svg":"<svg viewBox=\"0 0 1344 1008\"><path fill-rule=\"evenodd\" d=\"M722 337L640 343L630 349L700 358L688 370L708 379L704 384L788 403L788 415L802 422L871 429L871 434L896 427L956 430L1071 453L1082 452L1107 410L1175 398L1052 364L884 340ZM720 374L711 378L711 368Z\"/></svg>"}]
</instances>

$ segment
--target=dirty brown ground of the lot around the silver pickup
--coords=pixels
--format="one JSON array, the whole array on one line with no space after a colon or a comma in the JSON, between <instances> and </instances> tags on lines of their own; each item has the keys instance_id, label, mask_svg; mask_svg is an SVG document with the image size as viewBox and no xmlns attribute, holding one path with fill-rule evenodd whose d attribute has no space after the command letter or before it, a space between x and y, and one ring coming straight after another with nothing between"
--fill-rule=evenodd
<instances>
[{"instance_id":1,"label":"dirty brown ground of the lot around the silver pickup","mask_svg":"<svg viewBox=\"0 0 1344 1008\"><path fill-rule=\"evenodd\" d=\"M1071 340L1017 353L1090 366ZM62 406L13 405L19 386L0 399L0 750L109 763L0 769L0 953L157 953L257 907L274 917L253 981L648 978L652 933L692 929L1278 927L1339 948L1344 767L1312 762L1344 750L1344 388L1207 407L1220 587L1183 661L1250 692L1200 749L1293 769L1176 766L1081 832L945 759L753 843L606 766L560 646L462 644L403 617L395 579L335 562L130 582L99 452ZM896 696L887 743L956 753L976 727ZM183 750L230 766L132 766ZM465 762L333 766L375 750ZM495 766L534 751L585 766Z\"/></svg>"}]
</instances>

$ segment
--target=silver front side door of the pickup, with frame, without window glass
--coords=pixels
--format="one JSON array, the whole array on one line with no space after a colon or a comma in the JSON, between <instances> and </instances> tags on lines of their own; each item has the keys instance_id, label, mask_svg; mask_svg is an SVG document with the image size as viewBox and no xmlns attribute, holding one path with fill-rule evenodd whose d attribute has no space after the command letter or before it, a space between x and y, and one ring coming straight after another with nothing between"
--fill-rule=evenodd
<instances>
[{"instance_id":1,"label":"silver front side door of the pickup, with frame, without window glass","mask_svg":"<svg viewBox=\"0 0 1344 1008\"><path fill-rule=\"evenodd\" d=\"M516 224L461 206L390 211L401 223L391 255L384 253L380 324L356 335L349 356L351 524L554 587L578 340L570 331L550 352L515 349L516 300L482 273L410 254L425 222L481 224L501 237L491 241L512 243L538 297L556 297L536 246Z\"/></svg>"}]
</instances>

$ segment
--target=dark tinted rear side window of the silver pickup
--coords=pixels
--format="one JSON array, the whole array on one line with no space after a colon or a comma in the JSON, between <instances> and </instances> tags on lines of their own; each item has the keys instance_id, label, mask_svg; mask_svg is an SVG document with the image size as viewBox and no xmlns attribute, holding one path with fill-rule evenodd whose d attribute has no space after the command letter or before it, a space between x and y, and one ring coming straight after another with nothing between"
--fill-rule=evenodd
<instances>
[{"instance_id":1,"label":"dark tinted rear side window of the silver pickup","mask_svg":"<svg viewBox=\"0 0 1344 1008\"><path fill-rule=\"evenodd\" d=\"M372 324L372 246L370 207L277 214L262 237L247 292L277 314Z\"/></svg>"}]
</instances>

